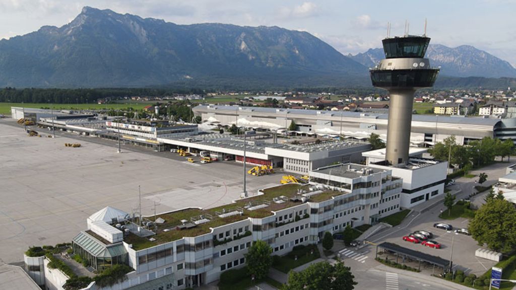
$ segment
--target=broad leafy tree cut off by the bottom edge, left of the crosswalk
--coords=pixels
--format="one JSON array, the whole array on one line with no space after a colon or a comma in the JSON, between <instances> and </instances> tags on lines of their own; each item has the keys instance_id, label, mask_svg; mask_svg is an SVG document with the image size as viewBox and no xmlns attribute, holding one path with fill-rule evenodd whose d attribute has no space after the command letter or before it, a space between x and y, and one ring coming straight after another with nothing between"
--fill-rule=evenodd
<instances>
[{"instance_id":1,"label":"broad leafy tree cut off by the bottom edge, left of the crosswalk","mask_svg":"<svg viewBox=\"0 0 516 290\"><path fill-rule=\"evenodd\" d=\"M285 290L353 290L357 282L349 267L337 261L335 265L320 262L288 275Z\"/></svg>"}]
</instances>

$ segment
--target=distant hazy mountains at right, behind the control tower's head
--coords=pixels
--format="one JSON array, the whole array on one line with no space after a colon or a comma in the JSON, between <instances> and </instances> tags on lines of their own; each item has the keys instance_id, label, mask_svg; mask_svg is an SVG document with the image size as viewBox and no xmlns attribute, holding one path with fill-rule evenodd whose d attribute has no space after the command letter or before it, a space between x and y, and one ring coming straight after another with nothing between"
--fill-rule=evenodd
<instances>
[{"instance_id":1,"label":"distant hazy mountains at right, behind the control tower's head","mask_svg":"<svg viewBox=\"0 0 516 290\"><path fill-rule=\"evenodd\" d=\"M365 53L348 56L369 68L385 58L383 49L369 49ZM448 47L429 44L426 57L432 66L441 67L440 74L445 76L516 77L516 69L509 62L471 45Z\"/></svg>"}]
</instances>

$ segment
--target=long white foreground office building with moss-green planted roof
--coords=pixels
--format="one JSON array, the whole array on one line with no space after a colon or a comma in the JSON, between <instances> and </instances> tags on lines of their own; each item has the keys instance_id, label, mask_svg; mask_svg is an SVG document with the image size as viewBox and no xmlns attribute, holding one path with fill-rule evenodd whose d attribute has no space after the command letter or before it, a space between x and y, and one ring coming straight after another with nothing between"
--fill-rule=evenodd
<instances>
[{"instance_id":1,"label":"long white foreground office building with moss-green planted roof","mask_svg":"<svg viewBox=\"0 0 516 290\"><path fill-rule=\"evenodd\" d=\"M245 266L253 241L264 240L273 254L284 255L295 246L318 243L325 232L373 223L400 210L402 180L391 170L341 164L310 175L307 185L265 188L260 195L216 208L140 219L106 207L72 239L73 253L95 270L115 264L133 269L110 289L183 289ZM63 288L66 276L50 270L45 257L26 256L25 263L37 265L29 275L39 283ZM85 289L99 288L92 282Z\"/></svg>"}]
</instances>

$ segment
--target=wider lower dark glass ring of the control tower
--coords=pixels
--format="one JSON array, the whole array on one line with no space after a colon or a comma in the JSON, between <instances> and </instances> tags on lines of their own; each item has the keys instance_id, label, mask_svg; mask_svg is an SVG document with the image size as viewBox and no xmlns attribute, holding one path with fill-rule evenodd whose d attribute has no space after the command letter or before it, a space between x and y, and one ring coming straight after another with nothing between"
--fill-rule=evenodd
<instances>
[{"instance_id":1,"label":"wider lower dark glass ring of the control tower","mask_svg":"<svg viewBox=\"0 0 516 290\"><path fill-rule=\"evenodd\" d=\"M436 82L439 69L372 70L373 86L380 88L426 88Z\"/></svg>"}]
</instances>

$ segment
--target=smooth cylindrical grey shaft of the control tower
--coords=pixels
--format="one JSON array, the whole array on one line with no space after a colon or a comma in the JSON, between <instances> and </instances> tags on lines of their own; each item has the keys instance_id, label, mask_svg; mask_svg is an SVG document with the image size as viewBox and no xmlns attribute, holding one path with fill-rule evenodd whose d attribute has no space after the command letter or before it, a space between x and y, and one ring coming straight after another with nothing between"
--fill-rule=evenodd
<instances>
[{"instance_id":1,"label":"smooth cylindrical grey shaft of the control tower","mask_svg":"<svg viewBox=\"0 0 516 290\"><path fill-rule=\"evenodd\" d=\"M406 164L409 160L414 93L411 88L389 90L391 100L385 159L390 164Z\"/></svg>"}]
</instances>

